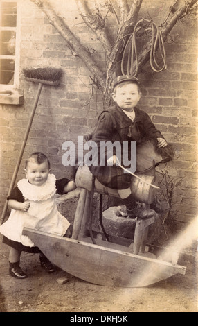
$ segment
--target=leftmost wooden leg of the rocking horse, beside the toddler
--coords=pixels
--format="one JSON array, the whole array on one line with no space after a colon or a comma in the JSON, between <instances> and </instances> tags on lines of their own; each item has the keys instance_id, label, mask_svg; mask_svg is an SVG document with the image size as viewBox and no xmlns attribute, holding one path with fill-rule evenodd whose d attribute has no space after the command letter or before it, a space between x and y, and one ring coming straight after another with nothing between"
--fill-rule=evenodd
<instances>
[{"instance_id":1,"label":"leftmost wooden leg of the rocking horse, beside the toddler","mask_svg":"<svg viewBox=\"0 0 198 326\"><path fill-rule=\"evenodd\" d=\"M82 217L84 213L84 205L86 200L87 190L82 189L80 192L80 198L78 200L78 205L75 211L75 217L73 222L73 232L72 232L72 239L78 239L78 235L81 228Z\"/></svg>"}]
</instances>

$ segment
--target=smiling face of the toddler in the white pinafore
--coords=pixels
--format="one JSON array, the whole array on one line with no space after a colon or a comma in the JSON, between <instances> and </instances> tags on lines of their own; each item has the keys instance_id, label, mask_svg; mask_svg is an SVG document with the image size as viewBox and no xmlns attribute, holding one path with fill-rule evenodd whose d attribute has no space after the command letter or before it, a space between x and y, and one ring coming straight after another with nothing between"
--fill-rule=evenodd
<instances>
[{"instance_id":1,"label":"smiling face of the toddler in the white pinafore","mask_svg":"<svg viewBox=\"0 0 198 326\"><path fill-rule=\"evenodd\" d=\"M44 161L42 164L38 164L35 160L30 160L28 165L25 169L26 178L28 181L35 186L42 186L46 182L48 178L50 170L48 167L47 160Z\"/></svg>"}]
</instances>

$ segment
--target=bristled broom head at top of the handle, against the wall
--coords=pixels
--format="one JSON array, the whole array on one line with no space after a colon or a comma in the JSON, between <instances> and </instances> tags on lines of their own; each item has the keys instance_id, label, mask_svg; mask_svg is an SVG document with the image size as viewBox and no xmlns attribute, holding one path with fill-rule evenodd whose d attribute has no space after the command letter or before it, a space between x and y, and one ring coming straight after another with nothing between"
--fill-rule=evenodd
<instances>
[{"instance_id":1,"label":"bristled broom head at top of the handle, against the wall","mask_svg":"<svg viewBox=\"0 0 198 326\"><path fill-rule=\"evenodd\" d=\"M61 68L24 68L23 73L26 80L33 83L42 83L46 85L57 86L60 84L60 78L62 76Z\"/></svg>"}]
</instances>

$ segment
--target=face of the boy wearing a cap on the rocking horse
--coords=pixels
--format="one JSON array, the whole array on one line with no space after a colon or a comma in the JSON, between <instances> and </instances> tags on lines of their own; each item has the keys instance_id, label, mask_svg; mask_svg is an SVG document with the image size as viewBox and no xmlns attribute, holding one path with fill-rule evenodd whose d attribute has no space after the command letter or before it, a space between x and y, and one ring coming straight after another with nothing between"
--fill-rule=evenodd
<instances>
[{"instance_id":1,"label":"face of the boy wearing a cap on the rocking horse","mask_svg":"<svg viewBox=\"0 0 198 326\"><path fill-rule=\"evenodd\" d=\"M116 87L112 98L120 108L128 112L132 111L141 98L138 85L133 83L120 84Z\"/></svg>"}]
</instances>

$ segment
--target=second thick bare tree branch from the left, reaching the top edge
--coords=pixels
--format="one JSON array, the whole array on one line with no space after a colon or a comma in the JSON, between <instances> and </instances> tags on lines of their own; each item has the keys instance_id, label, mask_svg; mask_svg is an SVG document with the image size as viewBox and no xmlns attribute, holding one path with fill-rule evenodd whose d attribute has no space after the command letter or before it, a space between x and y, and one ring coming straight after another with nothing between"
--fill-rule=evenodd
<instances>
[{"instance_id":1,"label":"second thick bare tree branch from the left, reaching the top edge","mask_svg":"<svg viewBox=\"0 0 198 326\"><path fill-rule=\"evenodd\" d=\"M85 24L87 24L87 26L91 28L91 31L96 34L98 40L101 42L103 48L105 49L107 56L109 56L111 52L111 43L109 41L109 38L107 37L107 34L105 33L105 22L102 26L102 18L100 24L100 17L93 17L93 13L89 11L89 8L87 8L86 3L83 0L75 0L75 2L77 3L78 10ZM94 24L96 23L96 18L98 24Z\"/></svg>"}]
</instances>

